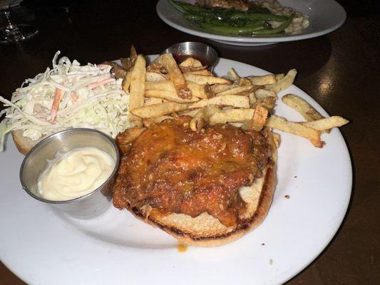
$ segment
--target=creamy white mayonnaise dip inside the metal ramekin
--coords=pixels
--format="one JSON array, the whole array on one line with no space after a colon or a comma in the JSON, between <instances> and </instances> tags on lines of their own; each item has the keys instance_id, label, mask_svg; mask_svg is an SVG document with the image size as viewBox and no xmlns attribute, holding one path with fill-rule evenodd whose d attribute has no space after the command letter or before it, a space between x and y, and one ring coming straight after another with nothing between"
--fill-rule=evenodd
<instances>
[{"instance_id":1,"label":"creamy white mayonnaise dip inside the metal ramekin","mask_svg":"<svg viewBox=\"0 0 380 285\"><path fill-rule=\"evenodd\" d=\"M38 177L38 194L51 201L82 197L106 182L114 167L113 157L97 147L58 154Z\"/></svg>"}]
</instances>

